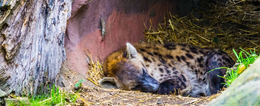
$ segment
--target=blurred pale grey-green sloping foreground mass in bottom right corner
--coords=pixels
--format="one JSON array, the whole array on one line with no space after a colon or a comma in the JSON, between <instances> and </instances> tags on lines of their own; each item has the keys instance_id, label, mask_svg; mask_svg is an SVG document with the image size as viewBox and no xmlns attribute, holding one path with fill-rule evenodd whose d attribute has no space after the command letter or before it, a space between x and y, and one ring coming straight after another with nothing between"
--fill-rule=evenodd
<instances>
[{"instance_id":1,"label":"blurred pale grey-green sloping foreground mass in bottom right corner","mask_svg":"<svg viewBox=\"0 0 260 106\"><path fill-rule=\"evenodd\" d=\"M260 58L208 106L259 106Z\"/></svg>"}]
</instances>

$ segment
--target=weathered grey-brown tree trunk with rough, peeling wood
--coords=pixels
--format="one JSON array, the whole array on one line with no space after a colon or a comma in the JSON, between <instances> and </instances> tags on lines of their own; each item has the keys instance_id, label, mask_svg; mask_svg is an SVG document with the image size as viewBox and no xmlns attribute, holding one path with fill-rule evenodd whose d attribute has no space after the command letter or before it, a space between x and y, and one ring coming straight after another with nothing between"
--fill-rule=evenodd
<instances>
[{"instance_id":1,"label":"weathered grey-brown tree trunk with rough, peeling wood","mask_svg":"<svg viewBox=\"0 0 260 106\"><path fill-rule=\"evenodd\" d=\"M71 0L2 0L0 10L0 89L26 95L46 91L66 59Z\"/></svg>"}]
</instances>

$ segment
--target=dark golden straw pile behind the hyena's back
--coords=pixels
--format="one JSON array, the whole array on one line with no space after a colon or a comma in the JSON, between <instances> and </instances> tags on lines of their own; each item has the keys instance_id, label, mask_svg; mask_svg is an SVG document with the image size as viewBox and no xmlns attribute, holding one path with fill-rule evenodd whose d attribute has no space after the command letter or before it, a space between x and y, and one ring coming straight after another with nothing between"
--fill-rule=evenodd
<instances>
[{"instance_id":1,"label":"dark golden straw pile behind the hyena's back","mask_svg":"<svg viewBox=\"0 0 260 106\"><path fill-rule=\"evenodd\" d=\"M187 43L200 47L221 48L233 58L232 49L244 50L260 44L260 2L258 0L228 0L226 4L216 1L207 11L193 12L187 17L176 15L164 17L164 23L155 29L145 26L148 43ZM199 14L199 15L198 15ZM150 21L151 22L151 21Z\"/></svg>"}]
</instances>

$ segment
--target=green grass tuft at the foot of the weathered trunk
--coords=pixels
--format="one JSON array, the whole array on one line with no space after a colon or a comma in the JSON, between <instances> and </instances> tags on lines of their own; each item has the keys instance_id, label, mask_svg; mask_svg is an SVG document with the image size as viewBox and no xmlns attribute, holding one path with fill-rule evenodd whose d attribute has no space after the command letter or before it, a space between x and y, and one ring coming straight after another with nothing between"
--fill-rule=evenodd
<instances>
[{"instance_id":1,"label":"green grass tuft at the foot of the weathered trunk","mask_svg":"<svg viewBox=\"0 0 260 106\"><path fill-rule=\"evenodd\" d=\"M59 87L55 89L55 85L49 89L47 94L29 97L30 106L63 106L69 104L65 99L68 99L70 103L76 103L77 96L64 90L61 91ZM23 103L20 103L19 105L25 106ZM8 106L14 106L14 104L9 104Z\"/></svg>"}]
</instances>

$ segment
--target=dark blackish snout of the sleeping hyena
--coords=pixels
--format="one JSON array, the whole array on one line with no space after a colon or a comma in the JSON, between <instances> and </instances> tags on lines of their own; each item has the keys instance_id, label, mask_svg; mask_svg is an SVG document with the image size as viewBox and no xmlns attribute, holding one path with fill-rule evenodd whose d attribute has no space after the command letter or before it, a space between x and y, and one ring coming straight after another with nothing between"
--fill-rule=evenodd
<instances>
[{"instance_id":1,"label":"dark blackish snout of the sleeping hyena","mask_svg":"<svg viewBox=\"0 0 260 106\"><path fill-rule=\"evenodd\" d=\"M132 90L156 94L160 90L160 84L151 76L145 76L145 80Z\"/></svg>"}]
</instances>

